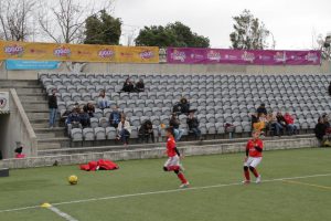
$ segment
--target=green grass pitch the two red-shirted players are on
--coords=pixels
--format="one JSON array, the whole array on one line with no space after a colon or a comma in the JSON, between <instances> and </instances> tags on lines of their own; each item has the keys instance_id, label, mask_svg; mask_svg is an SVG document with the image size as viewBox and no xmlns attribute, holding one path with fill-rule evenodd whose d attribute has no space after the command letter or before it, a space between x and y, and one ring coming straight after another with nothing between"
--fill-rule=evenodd
<instances>
[{"instance_id":1,"label":"green grass pitch the two red-shirted players are on","mask_svg":"<svg viewBox=\"0 0 331 221\"><path fill-rule=\"evenodd\" d=\"M11 170L9 178L0 178L0 210L177 189L180 185L177 177L162 171L164 160L121 161L116 171L85 172L77 166ZM242 164L243 154L186 157L183 160L192 187L239 182ZM267 151L258 169L264 180L330 173L331 149ZM70 175L78 176L77 186L67 183ZM293 181L300 183L273 181L192 189L56 208L79 221L330 220L331 176ZM64 219L47 209L35 208L0 212L0 220Z\"/></svg>"}]
</instances>

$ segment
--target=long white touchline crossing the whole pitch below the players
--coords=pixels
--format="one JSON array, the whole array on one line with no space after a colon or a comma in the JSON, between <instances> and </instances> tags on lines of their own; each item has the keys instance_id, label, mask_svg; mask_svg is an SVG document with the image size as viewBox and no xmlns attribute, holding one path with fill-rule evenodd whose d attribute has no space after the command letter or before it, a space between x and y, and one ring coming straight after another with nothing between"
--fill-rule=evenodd
<instances>
[{"instance_id":1,"label":"long white touchline crossing the whole pitch below the players","mask_svg":"<svg viewBox=\"0 0 331 221\"><path fill-rule=\"evenodd\" d=\"M306 179L306 178L314 178L314 177L329 177L329 176L331 176L331 173L308 175L308 176L300 176L300 177L285 177L285 178L275 178L275 179L269 179L269 180L263 180L263 182L275 182L275 181L284 181L284 180ZM140 192L140 193L131 193L131 194L118 194L118 196L109 196L109 197L103 197L103 198L89 198L89 199L83 199L83 200L56 202L56 203L52 203L52 206L74 204L74 203L83 203L83 202L92 202L92 201L100 201L100 200L150 196L150 194L162 194L162 193L191 191L191 190L203 190L203 189L213 189L213 188L242 186L242 185L243 185L242 182L233 182L233 183L213 185L213 186L204 186L204 187L190 187L190 188L186 188L186 189L172 189L172 190L160 190L160 191ZM7 209L7 210L0 210L0 213L21 211L21 210L30 210L30 209L38 209L38 208L40 208L40 206Z\"/></svg>"}]
</instances>

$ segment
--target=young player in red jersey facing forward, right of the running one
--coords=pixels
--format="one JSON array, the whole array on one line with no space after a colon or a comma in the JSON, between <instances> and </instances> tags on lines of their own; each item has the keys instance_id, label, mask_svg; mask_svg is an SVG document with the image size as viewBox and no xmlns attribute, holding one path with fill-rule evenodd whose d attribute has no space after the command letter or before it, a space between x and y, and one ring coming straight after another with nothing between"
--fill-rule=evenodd
<instances>
[{"instance_id":1,"label":"young player in red jersey facing forward, right of the running one","mask_svg":"<svg viewBox=\"0 0 331 221\"><path fill-rule=\"evenodd\" d=\"M263 158L263 148L264 143L259 138L259 131L253 131L253 138L247 141L246 145L246 157L244 161L244 176L245 180L244 183L250 182L249 170L256 178L256 183L260 182L260 175L257 172L256 167L259 165Z\"/></svg>"}]
</instances>

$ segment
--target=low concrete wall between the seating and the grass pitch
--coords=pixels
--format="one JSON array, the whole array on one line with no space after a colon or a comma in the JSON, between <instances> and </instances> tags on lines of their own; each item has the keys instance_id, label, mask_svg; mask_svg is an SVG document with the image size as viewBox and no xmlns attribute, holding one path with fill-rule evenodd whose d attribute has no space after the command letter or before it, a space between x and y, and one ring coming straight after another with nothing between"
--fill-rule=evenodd
<instances>
[{"instance_id":1,"label":"low concrete wall between the seating and the grass pitch","mask_svg":"<svg viewBox=\"0 0 331 221\"><path fill-rule=\"evenodd\" d=\"M266 140L265 150L277 149L295 149L305 147L317 147L318 141L316 138L292 138L292 139L278 139ZM245 143L205 145L205 146L185 146L180 147L185 156L195 155L216 155L241 152L245 150ZM0 160L0 168L30 168L30 167L45 167L52 166L55 160L60 165L76 165L86 164L90 160L110 159L130 160L130 159L149 159L164 157L164 148L150 148L150 149L135 149L135 150L117 150L105 152L89 152L77 155L62 155L62 156L46 156L46 157L31 157L25 159L4 159Z\"/></svg>"}]
</instances>

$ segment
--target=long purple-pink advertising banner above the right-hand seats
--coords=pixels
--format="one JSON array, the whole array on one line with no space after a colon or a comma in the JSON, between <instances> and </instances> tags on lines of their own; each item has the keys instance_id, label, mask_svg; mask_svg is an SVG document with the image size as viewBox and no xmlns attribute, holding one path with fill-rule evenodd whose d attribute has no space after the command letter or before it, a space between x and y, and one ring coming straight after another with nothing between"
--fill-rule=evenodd
<instances>
[{"instance_id":1,"label":"long purple-pink advertising banner above the right-hand seats","mask_svg":"<svg viewBox=\"0 0 331 221\"><path fill-rule=\"evenodd\" d=\"M320 65L320 51L168 48L170 64Z\"/></svg>"}]
</instances>

